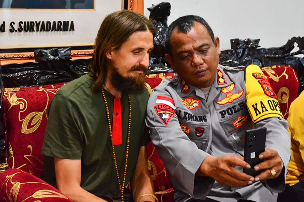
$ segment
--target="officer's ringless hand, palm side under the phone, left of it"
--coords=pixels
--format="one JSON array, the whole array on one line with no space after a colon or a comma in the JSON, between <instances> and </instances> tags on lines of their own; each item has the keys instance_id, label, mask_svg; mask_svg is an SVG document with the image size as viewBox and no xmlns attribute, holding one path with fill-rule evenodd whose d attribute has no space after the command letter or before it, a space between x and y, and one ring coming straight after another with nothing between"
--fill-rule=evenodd
<instances>
[{"instance_id":1,"label":"officer's ringless hand, palm side under the phone, left of it","mask_svg":"<svg viewBox=\"0 0 304 202\"><path fill-rule=\"evenodd\" d=\"M235 166L250 168L250 165L240 156L208 156L200 166L197 175L212 177L218 183L231 187L242 187L254 181L254 177L238 171L234 168Z\"/></svg>"}]
</instances>

